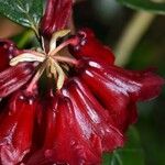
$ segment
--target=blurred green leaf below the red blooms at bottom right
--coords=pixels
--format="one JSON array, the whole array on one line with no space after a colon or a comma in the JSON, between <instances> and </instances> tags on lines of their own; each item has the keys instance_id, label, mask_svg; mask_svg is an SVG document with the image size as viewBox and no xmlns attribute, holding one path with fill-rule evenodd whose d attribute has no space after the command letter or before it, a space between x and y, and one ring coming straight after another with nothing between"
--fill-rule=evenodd
<instances>
[{"instance_id":1,"label":"blurred green leaf below the red blooms at bottom right","mask_svg":"<svg viewBox=\"0 0 165 165\"><path fill-rule=\"evenodd\" d=\"M138 131L132 127L128 133L128 143L112 154L103 155L103 165L144 165L144 153Z\"/></svg>"}]
</instances>

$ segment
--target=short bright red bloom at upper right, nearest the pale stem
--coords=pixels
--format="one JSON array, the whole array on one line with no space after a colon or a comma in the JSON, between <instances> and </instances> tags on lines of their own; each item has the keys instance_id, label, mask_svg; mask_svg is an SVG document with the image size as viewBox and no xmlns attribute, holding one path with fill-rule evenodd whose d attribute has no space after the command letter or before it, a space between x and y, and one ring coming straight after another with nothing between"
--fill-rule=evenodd
<instances>
[{"instance_id":1,"label":"short bright red bloom at upper right, nearest the pale stem","mask_svg":"<svg viewBox=\"0 0 165 165\"><path fill-rule=\"evenodd\" d=\"M92 58L107 64L113 64L114 55L112 51L102 45L91 30L80 30L75 37L75 43L69 46L70 53L78 59Z\"/></svg>"}]
</instances>

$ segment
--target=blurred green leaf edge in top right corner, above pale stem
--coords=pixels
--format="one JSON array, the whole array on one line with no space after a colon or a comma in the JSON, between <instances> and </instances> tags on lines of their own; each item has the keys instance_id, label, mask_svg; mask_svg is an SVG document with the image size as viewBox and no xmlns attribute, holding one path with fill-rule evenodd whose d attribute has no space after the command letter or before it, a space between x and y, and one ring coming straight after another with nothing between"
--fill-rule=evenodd
<instances>
[{"instance_id":1,"label":"blurred green leaf edge in top right corner, above pale stem","mask_svg":"<svg viewBox=\"0 0 165 165\"><path fill-rule=\"evenodd\" d=\"M146 10L158 14L165 14L165 1L155 2L152 0L118 0L120 3L125 4L132 9Z\"/></svg>"}]
</instances>

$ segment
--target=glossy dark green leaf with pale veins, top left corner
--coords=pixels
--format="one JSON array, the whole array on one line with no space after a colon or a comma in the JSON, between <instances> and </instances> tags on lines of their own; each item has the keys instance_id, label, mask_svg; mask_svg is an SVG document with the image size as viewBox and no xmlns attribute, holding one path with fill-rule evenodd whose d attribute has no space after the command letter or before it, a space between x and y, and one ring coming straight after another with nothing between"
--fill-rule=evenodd
<instances>
[{"instance_id":1,"label":"glossy dark green leaf with pale veins, top left corner","mask_svg":"<svg viewBox=\"0 0 165 165\"><path fill-rule=\"evenodd\" d=\"M35 32L43 15L45 0L0 0L0 14Z\"/></svg>"}]
</instances>

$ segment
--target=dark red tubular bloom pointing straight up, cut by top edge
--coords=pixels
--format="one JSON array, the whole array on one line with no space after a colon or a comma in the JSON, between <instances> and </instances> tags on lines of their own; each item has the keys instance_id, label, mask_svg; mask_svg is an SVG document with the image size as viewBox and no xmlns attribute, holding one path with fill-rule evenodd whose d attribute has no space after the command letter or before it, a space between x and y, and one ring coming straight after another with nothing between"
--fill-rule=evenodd
<instances>
[{"instance_id":1,"label":"dark red tubular bloom pointing straight up, cut by top edge","mask_svg":"<svg viewBox=\"0 0 165 165\"><path fill-rule=\"evenodd\" d=\"M41 33L51 36L68 24L73 0L47 0L45 14L41 21Z\"/></svg>"}]
</instances>

